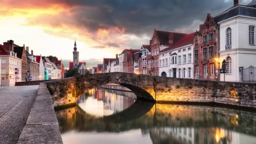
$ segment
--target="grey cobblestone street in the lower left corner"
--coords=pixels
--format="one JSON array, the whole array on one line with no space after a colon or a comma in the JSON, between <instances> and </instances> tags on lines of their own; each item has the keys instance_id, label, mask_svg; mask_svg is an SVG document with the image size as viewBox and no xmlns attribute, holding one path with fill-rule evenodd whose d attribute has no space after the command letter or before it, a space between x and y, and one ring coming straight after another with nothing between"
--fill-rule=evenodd
<instances>
[{"instance_id":1,"label":"grey cobblestone street in the lower left corner","mask_svg":"<svg viewBox=\"0 0 256 144\"><path fill-rule=\"evenodd\" d=\"M0 144L16 144L37 89L38 85L0 88Z\"/></svg>"}]
</instances>

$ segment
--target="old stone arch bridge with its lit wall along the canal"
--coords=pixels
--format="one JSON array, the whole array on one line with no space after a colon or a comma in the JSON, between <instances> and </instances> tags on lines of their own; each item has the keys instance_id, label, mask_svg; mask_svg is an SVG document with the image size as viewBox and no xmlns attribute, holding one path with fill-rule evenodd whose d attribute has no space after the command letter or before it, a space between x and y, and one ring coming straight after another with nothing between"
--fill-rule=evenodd
<instances>
[{"instance_id":1,"label":"old stone arch bridge with its lit wall along the canal","mask_svg":"<svg viewBox=\"0 0 256 144\"><path fill-rule=\"evenodd\" d=\"M156 77L113 72L45 82L54 107L75 104L83 93L108 83L123 85L137 99L157 102L208 102L256 108L255 83Z\"/></svg>"}]
</instances>

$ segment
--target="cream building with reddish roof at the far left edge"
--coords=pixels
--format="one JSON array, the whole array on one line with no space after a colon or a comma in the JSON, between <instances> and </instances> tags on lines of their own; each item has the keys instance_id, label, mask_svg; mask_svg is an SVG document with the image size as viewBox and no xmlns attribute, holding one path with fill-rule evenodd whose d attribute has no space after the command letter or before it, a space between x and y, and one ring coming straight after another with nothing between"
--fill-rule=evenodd
<instances>
[{"instance_id":1,"label":"cream building with reddish roof at the far left edge","mask_svg":"<svg viewBox=\"0 0 256 144\"><path fill-rule=\"evenodd\" d=\"M15 86L15 82L21 81L21 59L13 51L6 51L0 45L1 59L1 86Z\"/></svg>"}]
</instances>

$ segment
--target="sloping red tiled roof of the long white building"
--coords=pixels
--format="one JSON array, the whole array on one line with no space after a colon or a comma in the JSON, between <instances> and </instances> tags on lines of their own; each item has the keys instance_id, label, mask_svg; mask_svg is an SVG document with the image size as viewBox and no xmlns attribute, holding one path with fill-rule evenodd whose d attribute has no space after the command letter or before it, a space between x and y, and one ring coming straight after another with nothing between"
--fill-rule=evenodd
<instances>
[{"instance_id":1,"label":"sloping red tiled roof of the long white building","mask_svg":"<svg viewBox=\"0 0 256 144\"><path fill-rule=\"evenodd\" d=\"M162 51L160 51L159 53L163 53L166 51L170 51L172 49L175 48L179 48L181 46L185 46L185 45L189 45L189 44L193 44L194 43L194 37L195 37L195 32L192 32L190 34L185 35L184 37L182 37L179 41L177 41L174 45L172 45L169 48L165 48Z\"/></svg>"}]
</instances>

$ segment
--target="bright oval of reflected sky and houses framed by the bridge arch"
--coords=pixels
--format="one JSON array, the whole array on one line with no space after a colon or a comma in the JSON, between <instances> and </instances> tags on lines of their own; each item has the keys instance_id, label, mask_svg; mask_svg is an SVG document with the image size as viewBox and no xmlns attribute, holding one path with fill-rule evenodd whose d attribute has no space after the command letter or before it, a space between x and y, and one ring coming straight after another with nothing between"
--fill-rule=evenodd
<instances>
[{"instance_id":1,"label":"bright oval of reflected sky and houses framed by the bridge arch","mask_svg":"<svg viewBox=\"0 0 256 144\"><path fill-rule=\"evenodd\" d=\"M88 114L103 117L127 109L134 103L134 97L131 92L94 88L85 93L77 104Z\"/></svg>"}]
</instances>

